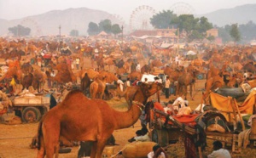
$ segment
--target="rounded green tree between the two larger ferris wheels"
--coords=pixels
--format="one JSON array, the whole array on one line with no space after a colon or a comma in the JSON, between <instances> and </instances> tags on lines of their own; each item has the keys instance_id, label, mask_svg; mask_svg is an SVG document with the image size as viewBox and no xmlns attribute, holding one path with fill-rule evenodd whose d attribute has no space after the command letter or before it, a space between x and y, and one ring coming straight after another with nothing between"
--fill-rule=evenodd
<instances>
[{"instance_id":1,"label":"rounded green tree between the two larger ferris wheels","mask_svg":"<svg viewBox=\"0 0 256 158\"><path fill-rule=\"evenodd\" d=\"M150 18L150 24L156 29L172 28L171 21L174 18L177 18L177 15L173 14L171 10L163 10L158 14L154 14L153 17Z\"/></svg>"}]
</instances>

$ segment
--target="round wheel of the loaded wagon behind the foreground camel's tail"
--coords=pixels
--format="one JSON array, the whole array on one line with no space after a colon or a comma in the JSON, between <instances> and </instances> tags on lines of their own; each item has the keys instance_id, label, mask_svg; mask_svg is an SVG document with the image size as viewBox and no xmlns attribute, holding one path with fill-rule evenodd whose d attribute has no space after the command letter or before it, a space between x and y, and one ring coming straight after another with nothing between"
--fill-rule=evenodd
<instances>
[{"instance_id":1,"label":"round wheel of the loaded wagon behind the foreground camel's tail","mask_svg":"<svg viewBox=\"0 0 256 158\"><path fill-rule=\"evenodd\" d=\"M26 107L24 110L22 110L22 121L24 122L38 122L40 121L41 117L42 115L38 108Z\"/></svg>"}]
</instances>

